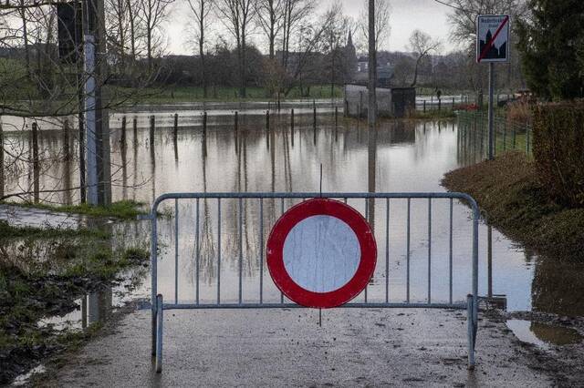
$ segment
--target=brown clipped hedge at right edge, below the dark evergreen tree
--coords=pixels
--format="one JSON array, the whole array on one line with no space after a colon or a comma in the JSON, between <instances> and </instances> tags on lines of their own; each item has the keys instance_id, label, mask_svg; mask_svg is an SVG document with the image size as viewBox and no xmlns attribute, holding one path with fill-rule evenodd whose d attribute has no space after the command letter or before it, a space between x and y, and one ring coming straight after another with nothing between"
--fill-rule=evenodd
<instances>
[{"instance_id":1,"label":"brown clipped hedge at right edge, below the dark evergreen tree","mask_svg":"<svg viewBox=\"0 0 584 388\"><path fill-rule=\"evenodd\" d=\"M584 207L584 102L537 106L533 126L538 179L558 203Z\"/></svg>"}]
</instances>

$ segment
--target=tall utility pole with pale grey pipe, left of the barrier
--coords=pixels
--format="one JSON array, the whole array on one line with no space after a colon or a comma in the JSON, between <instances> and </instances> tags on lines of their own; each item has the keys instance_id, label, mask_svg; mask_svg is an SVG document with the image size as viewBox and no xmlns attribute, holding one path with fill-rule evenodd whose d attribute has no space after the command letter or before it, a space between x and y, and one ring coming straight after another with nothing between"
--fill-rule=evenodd
<instances>
[{"instance_id":1,"label":"tall utility pole with pale grey pipe, left of the barrier","mask_svg":"<svg viewBox=\"0 0 584 388\"><path fill-rule=\"evenodd\" d=\"M87 200L103 206L111 203L110 123L101 91L107 66L103 0L84 0L83 11Z\"/></svg>"}]
</instances>

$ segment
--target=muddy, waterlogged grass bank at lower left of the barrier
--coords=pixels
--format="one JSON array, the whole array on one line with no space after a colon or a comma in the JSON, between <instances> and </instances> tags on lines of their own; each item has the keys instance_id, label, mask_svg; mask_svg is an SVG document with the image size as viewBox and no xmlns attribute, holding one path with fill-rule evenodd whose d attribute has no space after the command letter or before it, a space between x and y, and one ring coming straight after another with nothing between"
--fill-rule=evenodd
<instances>
[{"instance_id":1,"label":"muddy, waterlogged grass bank at lower left of the barrier","mask_svg":"<svg viewBox=\"0 0 584 388\"><path fill-rule=\"evenodd\" d=\"M77 347L93 331L59 332L37 322L78 309L75 300L113 285L122 272L145 271L148 250L111 246L109 239L88 236L0 240L0 385L50 354Z\"/></svg>"}]
</instances>

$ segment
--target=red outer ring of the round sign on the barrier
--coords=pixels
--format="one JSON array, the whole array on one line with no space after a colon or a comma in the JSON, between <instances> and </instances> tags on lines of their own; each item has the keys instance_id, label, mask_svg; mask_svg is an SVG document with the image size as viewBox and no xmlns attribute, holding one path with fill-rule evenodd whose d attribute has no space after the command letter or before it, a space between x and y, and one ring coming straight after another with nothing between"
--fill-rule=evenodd
<instances>
[{"instance_id":1,"label":"red outer ring of the round sign on the barrier","mask_svg":"<svg viewBox=\"0 0 584 388\"><path fill-rule=\"evenodd\" d=\"M284 243L298 222L312 216L336 217L347 223L360 244L360 263L355 275L344 286L334 291L314 292L300 287L288 274L284 265ZM360 213L334 199L309 199L287 210L277 220L267 240L267 268L276 286L288 299L306 307L328 309L338 307L355 298L365 289L373 276L377 262L377 244L369 223Z\"/></svg>"}]
</instances>

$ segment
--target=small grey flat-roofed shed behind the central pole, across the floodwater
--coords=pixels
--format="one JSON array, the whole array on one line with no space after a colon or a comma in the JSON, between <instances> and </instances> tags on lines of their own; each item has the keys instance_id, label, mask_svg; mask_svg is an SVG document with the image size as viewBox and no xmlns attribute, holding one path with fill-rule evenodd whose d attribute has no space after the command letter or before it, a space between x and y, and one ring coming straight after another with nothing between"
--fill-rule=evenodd
<instances>
[{"instance_id":1,"label":"small grey flat-roofed shed behind the central pole, across the floodwater","mask_svg":"<svg viewBox=\"0 0 584 388\"><path fill-rule=\"evenodd\" d=\"M377 87L377 112L380 117L406 117L415 109L415 87ZM345 115L367 117L369 89L361 85L345 85Z\"/></svg>"}]
</instances>

